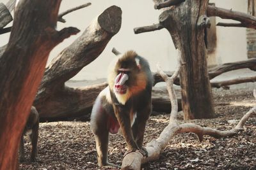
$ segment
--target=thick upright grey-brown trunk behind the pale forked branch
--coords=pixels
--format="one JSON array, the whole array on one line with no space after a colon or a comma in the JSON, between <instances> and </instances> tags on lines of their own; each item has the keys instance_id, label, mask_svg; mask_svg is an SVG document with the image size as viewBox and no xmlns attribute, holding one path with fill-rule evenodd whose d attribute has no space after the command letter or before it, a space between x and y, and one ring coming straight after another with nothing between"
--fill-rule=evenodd
<instances>
[{"instance_id":1,"label":"thick upright grey-brown trunk behind the pale forked branch","mask_svg":"<svg viewBox=\"0 0 256 170\"><path fill-rule=\"evenodd\" d=\"M170 32L175 47L182 53L180 87L184 119L215 117L204 44L207 20L200 20L207 5L206 0L184 1L159 16L160 24Z\"/></svg>"}]
</instances>

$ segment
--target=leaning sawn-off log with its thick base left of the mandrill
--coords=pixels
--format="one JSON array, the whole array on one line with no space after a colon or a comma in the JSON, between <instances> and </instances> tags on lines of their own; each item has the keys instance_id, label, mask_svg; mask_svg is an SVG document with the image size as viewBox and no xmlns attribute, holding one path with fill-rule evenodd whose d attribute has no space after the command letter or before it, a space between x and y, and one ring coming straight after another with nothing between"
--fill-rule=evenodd
<instances>
[{"instance_id":1,"label":"leaning sawn-off log with its thick base left of the mandrill","mask_svg":"<svg viewBox=\"0 0 256 170\"><path fill-rule=\"evenodd\" d=\"M109 40L119 31L122 11L117 6L106 9L95 18L83 34L65 48L46 68L34 105L40 118L72 117L90 110L94 97L105 85L85 88L65 87L65 81L75 76L84 66L95 60ZM93 97L91 97L93 96ZM94 99L93 99L94 98Z\"/></svg>"}]
</instances>

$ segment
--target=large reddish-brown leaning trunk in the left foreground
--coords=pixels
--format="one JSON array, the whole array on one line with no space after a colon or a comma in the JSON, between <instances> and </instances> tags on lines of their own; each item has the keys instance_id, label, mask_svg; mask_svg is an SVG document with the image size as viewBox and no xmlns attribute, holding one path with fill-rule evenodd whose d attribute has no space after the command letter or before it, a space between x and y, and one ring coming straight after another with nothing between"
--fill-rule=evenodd
<instances>
[{"instance_id":1,"label":"large reddish-brown leaning trunk in the left foreground","mask_svg":"<svg viewBox=\"0 0 256 170\"><path fill-rule=\"evenodd\" d=\"M54 46L77 29L55 30L61 1L20 1L0 58L0 169L17 169L17 148ZM26 20L24 20L26 18Z\"/></svg>"}]
</instances>

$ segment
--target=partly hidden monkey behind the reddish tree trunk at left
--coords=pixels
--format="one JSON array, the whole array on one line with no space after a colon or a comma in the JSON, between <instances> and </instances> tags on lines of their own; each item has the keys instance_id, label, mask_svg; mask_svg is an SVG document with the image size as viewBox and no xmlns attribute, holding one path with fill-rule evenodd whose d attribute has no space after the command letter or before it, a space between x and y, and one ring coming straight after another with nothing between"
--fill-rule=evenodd
<instances>
[{"instance_id":1,"label":"partly hidden monkey behind the reddish tree trunk at left","mask_svg":"<svg viewBox=\"0 0 256 170\"><path fill-rule=\"evenodd\" d=\"M24 153L24 135L25 134L29 135L31 145L32 145L30 161L31 162L36 161L38 129L39 129L39 114L36 108L32 106L26 126L24 127L24 131L20 139L20 150L19 150L20 162L24 162L25 160L25 153Z\"/></svg>"}]
</instances>

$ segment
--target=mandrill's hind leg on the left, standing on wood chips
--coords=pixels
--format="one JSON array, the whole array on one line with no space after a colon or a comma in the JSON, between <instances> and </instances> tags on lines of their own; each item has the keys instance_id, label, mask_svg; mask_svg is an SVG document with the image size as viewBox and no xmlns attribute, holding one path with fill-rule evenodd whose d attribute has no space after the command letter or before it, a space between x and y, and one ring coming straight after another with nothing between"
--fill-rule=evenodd
<instances>
[{"instance_id":1,"label":"mandrill's hind leg on the left, standing on wood chips","mask_svg":"<svg viewBox=\"0 0 256 170\"><path fill-rule=\"evenodd\" d=\"M97 159L100 167L116 166L108 162L108 115L100 100L97 99L93 106L90 126L96 141Z\"/></svg>"}]
</instances>

